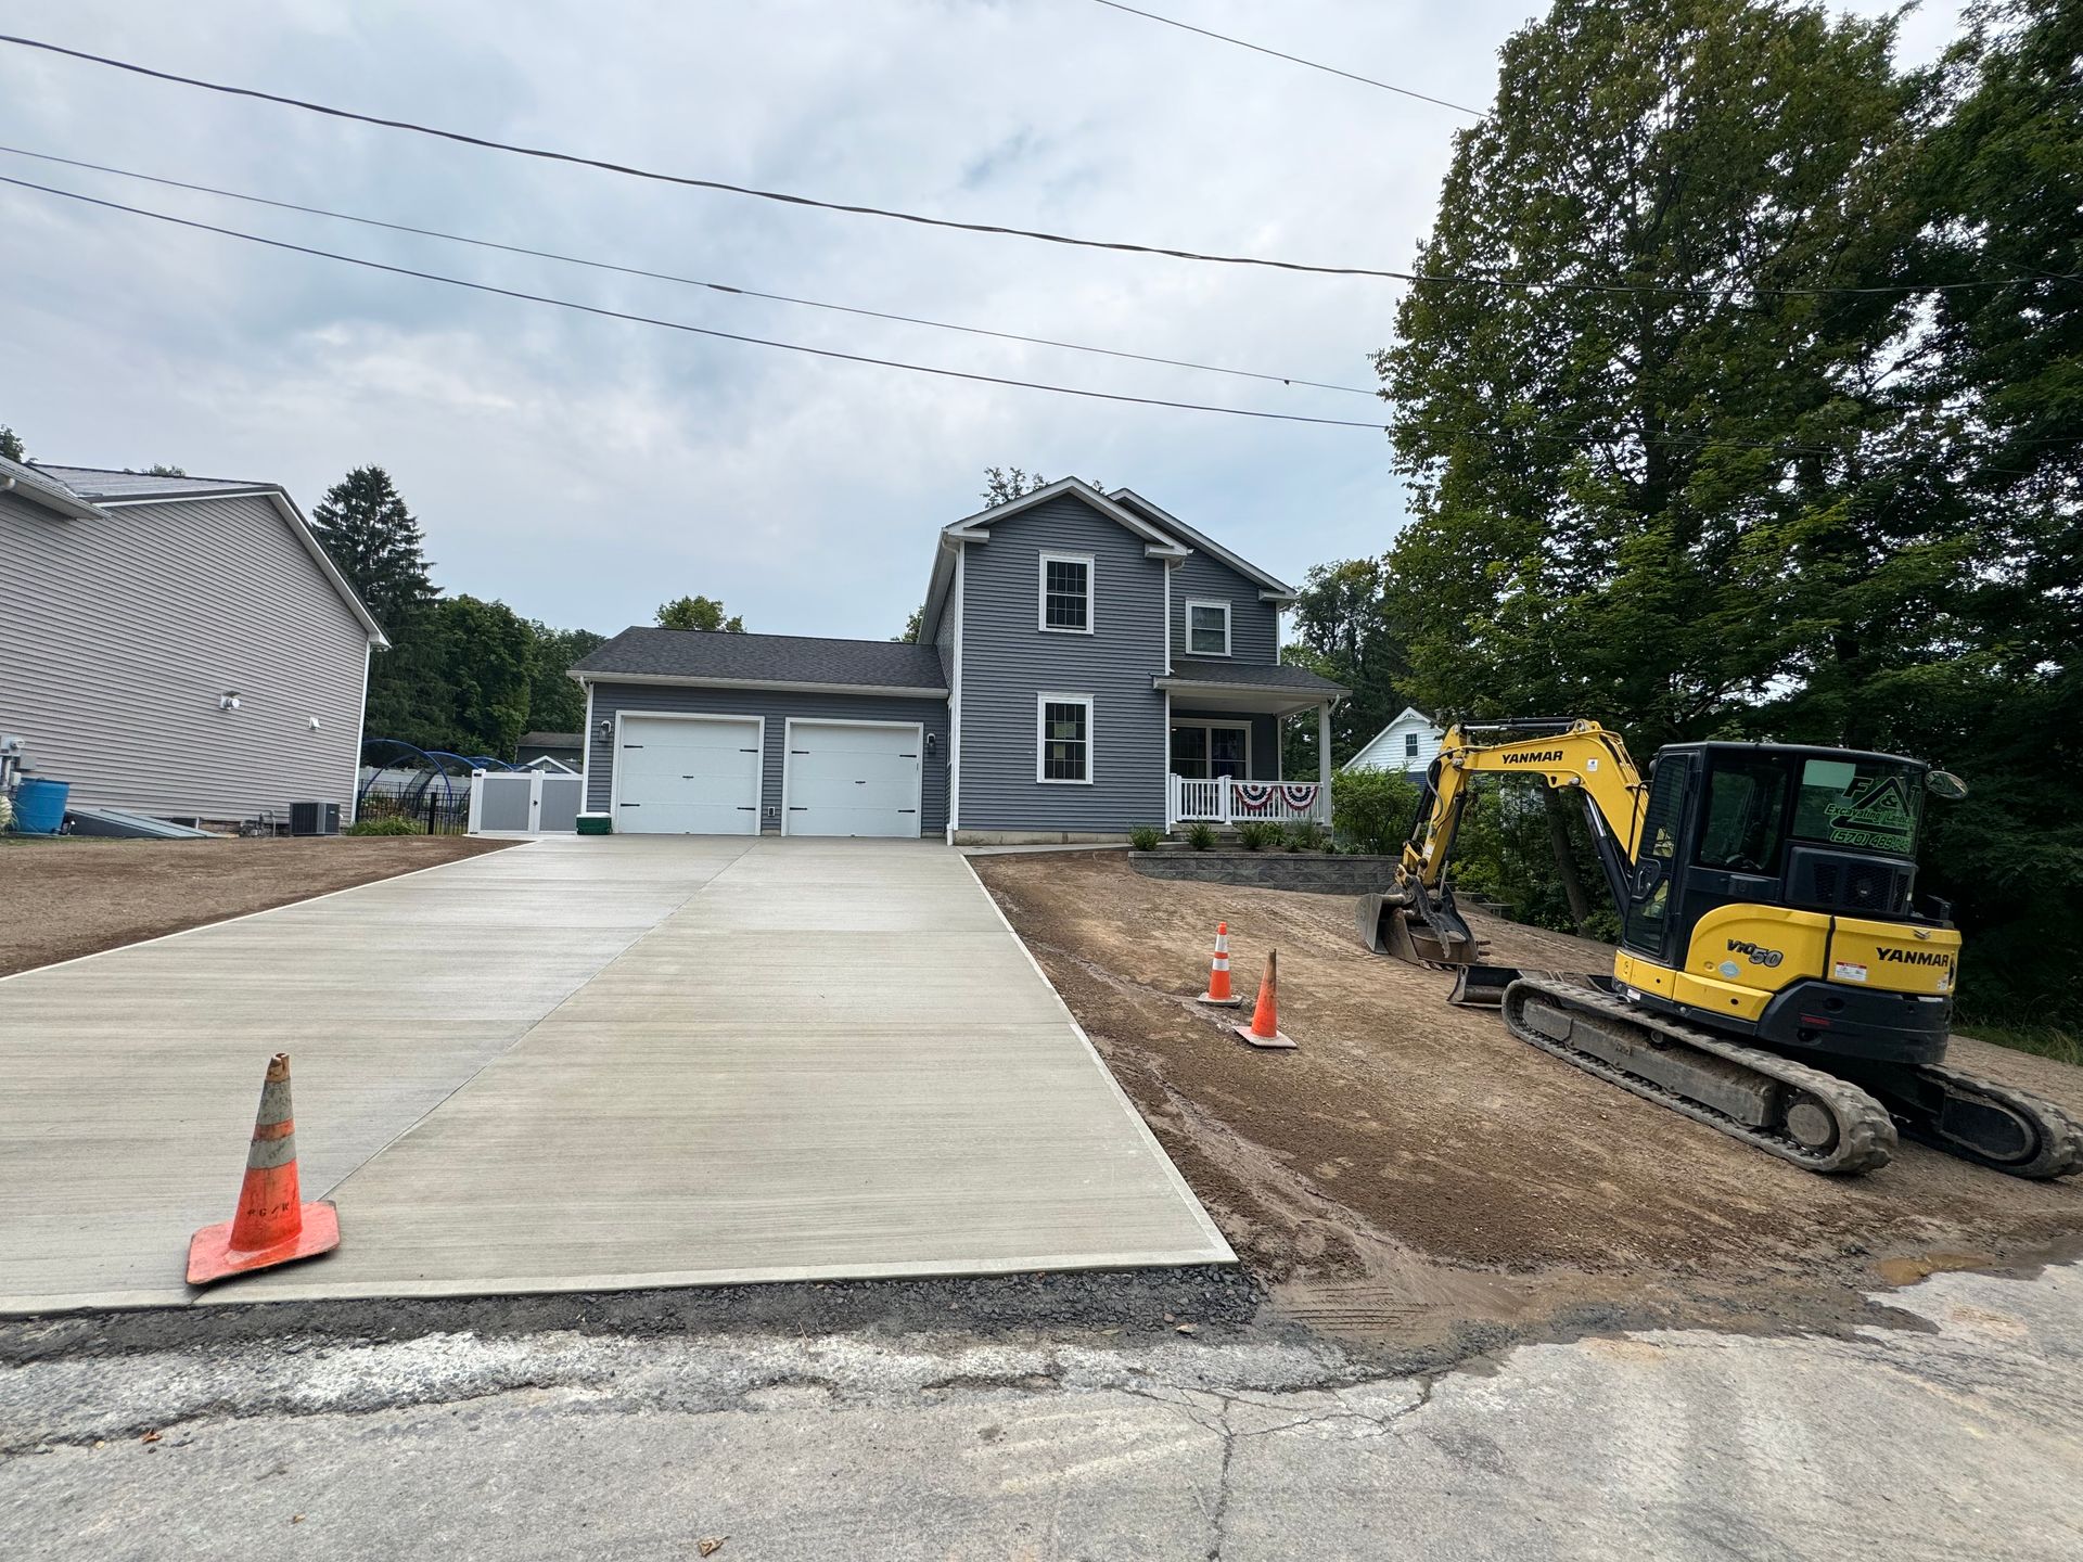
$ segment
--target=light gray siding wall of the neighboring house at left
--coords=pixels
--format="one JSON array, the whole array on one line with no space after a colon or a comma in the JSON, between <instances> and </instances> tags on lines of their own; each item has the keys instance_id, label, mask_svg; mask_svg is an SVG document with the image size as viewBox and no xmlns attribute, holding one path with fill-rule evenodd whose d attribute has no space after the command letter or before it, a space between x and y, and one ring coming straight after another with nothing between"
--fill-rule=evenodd
<instances>
[{"instance_id":1,"label":"light gray siding wall of the neighboring house at left","mask_svg":"<svg viewBox=\"0 0 2083 1562\"><path fill-rule=\"evenodd\" d=\"M346 816L369 635L275 506L108 514L0 494L0 731L75 802L240 821L319 800ZM240 708L219 710L231 689Z\"/></svg>"}]
</instances>

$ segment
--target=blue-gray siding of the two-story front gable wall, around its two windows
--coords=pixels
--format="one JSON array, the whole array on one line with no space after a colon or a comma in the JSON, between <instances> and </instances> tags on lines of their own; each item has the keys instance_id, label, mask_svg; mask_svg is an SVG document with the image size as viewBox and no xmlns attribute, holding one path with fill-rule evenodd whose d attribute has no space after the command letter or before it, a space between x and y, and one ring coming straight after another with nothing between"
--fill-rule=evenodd
<instances>
[{"instance_id":1,"label":"blue-gray siding of the two-story front gable wall, around its two windows","mask_svg":"<svg viewBox=\"0 0 2083 1562\"><path fill-rule=\"evenodd\" d=\"M969 829L1164 823L1164 577L1144 539L1062 496L992 523L962 562L962 816ZM1037 627L1042 552L1094 556L1089 635ZM1089 785L1035 781L1039 694L1094 700Z\"/></svg>"}]
</instances>

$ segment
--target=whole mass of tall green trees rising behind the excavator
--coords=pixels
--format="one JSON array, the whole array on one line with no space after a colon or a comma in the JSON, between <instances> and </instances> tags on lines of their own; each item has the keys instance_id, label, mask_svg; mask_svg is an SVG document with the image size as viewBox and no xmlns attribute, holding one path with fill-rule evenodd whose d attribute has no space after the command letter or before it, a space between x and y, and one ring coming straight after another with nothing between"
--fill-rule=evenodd
<instances>
[{"instance_id":1,"label":"whole mass of tall green trees rising behind the excavator","mask_svg":"<svg viewBox=\"0 0 2083 1562\"><path fill-rule=\"evenodd\" d=\"M1377 356L1410 523L1310 573L1289 654L1354 687L1335 758L1414 704L1939 762L1962 1010L2073 1025L2083 6L1893 44L1773 0L1506 44Z\"/></svg>"}]
</instances>

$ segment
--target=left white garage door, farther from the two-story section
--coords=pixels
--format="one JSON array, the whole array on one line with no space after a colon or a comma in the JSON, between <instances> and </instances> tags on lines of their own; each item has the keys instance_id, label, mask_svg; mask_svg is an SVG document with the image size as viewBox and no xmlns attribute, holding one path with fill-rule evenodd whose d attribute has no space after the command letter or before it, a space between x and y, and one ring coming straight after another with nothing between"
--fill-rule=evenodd
<instances>
[{"instance_id":1,"label":"left white garage door, farther from the two-story section","mask_svg":"<svg viewBox=\"0 0 2083 1562\"><path fill-rule=\"evenodd\" d=\"M627 835L758 835L758 716L623 712L614 829Z\"/></svg>"}]
</instances>

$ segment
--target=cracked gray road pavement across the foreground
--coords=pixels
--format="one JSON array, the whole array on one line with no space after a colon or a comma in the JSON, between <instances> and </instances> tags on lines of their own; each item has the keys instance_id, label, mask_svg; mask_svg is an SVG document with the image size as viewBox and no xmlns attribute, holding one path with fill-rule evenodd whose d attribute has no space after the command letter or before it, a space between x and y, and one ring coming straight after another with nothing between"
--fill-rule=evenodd
<instances>
[{"instance_id":1,"label":"cracked gray road pavement across the foreground","mask_svg":"<svg viewBox=\"0 0 2083 1562\"><path fill-rule=\"evenodd\" d=\"M75 1331L0 1375L0 1535L154 1562L2083 1558L2083 1266L1883 1300L1841 1339L1664 1331L1427 1379L1227 1325Z\"/></svg>"}]
</instances>

